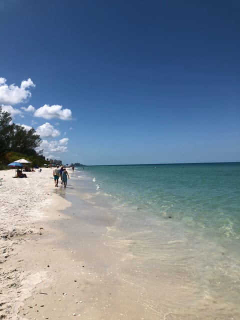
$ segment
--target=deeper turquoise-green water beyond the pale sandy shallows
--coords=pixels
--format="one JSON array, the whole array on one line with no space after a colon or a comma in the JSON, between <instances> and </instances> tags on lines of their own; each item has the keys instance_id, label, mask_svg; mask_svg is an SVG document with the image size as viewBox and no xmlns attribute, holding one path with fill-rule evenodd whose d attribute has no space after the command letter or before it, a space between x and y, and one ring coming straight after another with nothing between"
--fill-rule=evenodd
<instances>
[{"instance_id":1,"label":"deeper turquoise-green water beyond the pale sandy shallows","mask_svg":"<svg viewBox=\"0 0 240 320\"><path fill-rule=\"evenodd\" d=\"M90 166L96 188L156 219L240 239L240 164ZM141 213L139 213L141 212ZM142 213L144 212L144 213Z\"/></svg>"}]
</instances>

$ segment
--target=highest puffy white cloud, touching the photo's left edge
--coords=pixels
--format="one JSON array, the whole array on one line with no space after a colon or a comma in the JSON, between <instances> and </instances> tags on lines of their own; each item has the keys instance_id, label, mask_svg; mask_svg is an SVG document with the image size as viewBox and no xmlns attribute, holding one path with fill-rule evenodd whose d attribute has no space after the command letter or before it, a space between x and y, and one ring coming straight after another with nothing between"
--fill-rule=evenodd
<instances>
[{"instance_id":1,"label":"highest puffy white cloud, touching the photo's left edge","mask_svg":"<svg viewBox=\"0 0 240 320\"><path fill-rule=\"evenodd\" d=\"M0 77L0 103L16 104L26 101L31 92L29 87L35 87L35 84L30 78L21 81L20 87L13 84L7 85L6 79Z\"/></svg>"}]
</instances>

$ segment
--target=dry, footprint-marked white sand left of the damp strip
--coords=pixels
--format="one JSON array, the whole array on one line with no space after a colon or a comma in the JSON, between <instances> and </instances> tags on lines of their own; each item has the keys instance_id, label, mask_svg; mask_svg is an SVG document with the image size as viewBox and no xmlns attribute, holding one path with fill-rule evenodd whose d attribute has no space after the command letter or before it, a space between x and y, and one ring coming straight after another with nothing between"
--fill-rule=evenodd
<instances>
[{"instance_id":1,"label":"dry, footprint-marked white sand left of the damp strip","mask_svg":"<svg viewBox=\"0 0 240 320\"><path fill-rule=\"evenodd\" d=\"M0 171L0 318L20 319L24 299L48 276L47 266L36 266L33 247L49 232L45 222L62 218L56 210L70 205L54 193L51 172L43 168L13 178L14 169Z\"/></svg>"}]
</instances>

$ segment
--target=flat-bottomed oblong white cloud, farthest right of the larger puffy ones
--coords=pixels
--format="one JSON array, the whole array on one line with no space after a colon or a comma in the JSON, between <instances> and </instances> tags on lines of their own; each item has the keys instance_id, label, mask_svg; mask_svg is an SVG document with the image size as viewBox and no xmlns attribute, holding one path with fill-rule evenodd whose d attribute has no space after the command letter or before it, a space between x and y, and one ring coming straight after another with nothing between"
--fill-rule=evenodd
<instances>
[{"instance_id":1,"label":"flat-bottomed oblong white cloud, farthest right of the larger puffy ones","mask_svg":"<svg viewBox=\"0 0 240 320\"><path fill-rule=\"evenodd\" d=\"M62 109L62 105L53 104L48 105L44 104L43 106L36 109L34 116L43 117L44 119L61 119L61 120L70 120L71 119L71 110Z\"/></svg>"}]
</instances>

